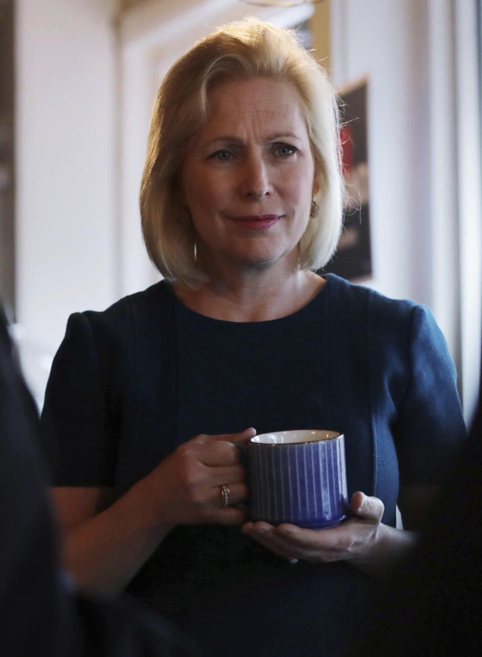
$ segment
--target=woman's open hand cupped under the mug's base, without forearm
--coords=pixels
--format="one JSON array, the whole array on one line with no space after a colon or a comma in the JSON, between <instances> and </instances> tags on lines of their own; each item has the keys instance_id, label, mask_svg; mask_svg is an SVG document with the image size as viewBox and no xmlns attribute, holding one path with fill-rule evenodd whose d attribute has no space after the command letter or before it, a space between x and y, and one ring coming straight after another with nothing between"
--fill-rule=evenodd
<instances>
[{"instance_id":1,"label":"woman's open hand cupped under the mug's base, without forearm","mask_svg":"<svg viewBox=\"0 0 482 657\"><path fill-rule=\"evenodd\" d=\"M357 491L350 504L352 515L337 527L309 530L291 524L274 527L267 522L247 522L243 532L286 559L314 563L345 560L362 570L377 545L385 538L381 524L383 502ZM387 528L391 530L391 528ZM395 530L397 531L397 530Z\"/></svg>"}]
</instances>

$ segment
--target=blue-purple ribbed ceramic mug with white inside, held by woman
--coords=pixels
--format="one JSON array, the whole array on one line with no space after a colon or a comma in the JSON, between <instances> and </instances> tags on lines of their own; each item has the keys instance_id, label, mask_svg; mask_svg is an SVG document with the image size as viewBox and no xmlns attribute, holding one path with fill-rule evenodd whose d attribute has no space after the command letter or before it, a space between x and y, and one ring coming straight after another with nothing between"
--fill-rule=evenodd
<instances>
[{"instance_id":1,"label":"blue-purple ribbed ceramic mug with white inside, held by woman","mask_svg":"<svg viewBox=\"0 0 482 657\"><path fill-rule=\"evenodd\" d=\"M272 432L254 436L245 449L253 522L322 529L347 517L343 434L324 429Z\"/></svg>"}]
</instances>

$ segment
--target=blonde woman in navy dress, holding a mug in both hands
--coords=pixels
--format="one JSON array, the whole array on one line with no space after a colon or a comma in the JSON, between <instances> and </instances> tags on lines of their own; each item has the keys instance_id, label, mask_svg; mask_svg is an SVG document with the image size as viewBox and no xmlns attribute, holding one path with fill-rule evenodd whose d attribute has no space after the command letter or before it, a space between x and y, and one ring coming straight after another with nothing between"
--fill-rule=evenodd
<instances>
[{"instance_id":1,"label":"blonde woman in navy dress, holding a mug in both hands","mask_svg":"<svg viewBox=\"0 0 482 657\"><path fill-rule=\"evenodd\" d=\"M47 388L70 570L128 587L209 655L341 654L370 576L414 541L397 498L416 528L464 431L429 311L312 271L341 231L337 135L290 32L249 20L197 43L160 88L141 189L166 281L72 315ZM251 426L344 432L352 517L246 522L229 441Z\"/></svg>"}]
</instances>

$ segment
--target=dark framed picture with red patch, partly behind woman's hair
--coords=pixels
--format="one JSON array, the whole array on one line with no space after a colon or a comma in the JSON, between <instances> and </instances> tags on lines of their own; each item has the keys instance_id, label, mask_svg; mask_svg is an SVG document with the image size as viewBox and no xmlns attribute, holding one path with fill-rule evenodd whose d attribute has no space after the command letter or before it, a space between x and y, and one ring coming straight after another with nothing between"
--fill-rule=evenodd
<instances>
[{"instance_id":1,"label":"dark framed picture with red patch, partly behind woman's hair","mask_svg":"<svg viewBox=\"0 0 482 657\"><path fill-rule=\"evenodd\" d=\"M364 78L345 87L338 95L347 195L343 207L343 233L337 252L324 271L350 281L366 280L372 275L368 194L368 79Z\"/></svg>"}]
</instances>

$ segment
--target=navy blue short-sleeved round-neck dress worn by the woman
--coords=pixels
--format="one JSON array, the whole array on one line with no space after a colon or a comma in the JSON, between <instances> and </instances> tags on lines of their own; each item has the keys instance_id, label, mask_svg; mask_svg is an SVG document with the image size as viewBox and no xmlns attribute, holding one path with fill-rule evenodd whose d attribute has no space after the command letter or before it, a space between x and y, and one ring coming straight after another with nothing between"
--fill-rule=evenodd
<instances>
[{"instance_id":1,"label":"navy blue short-sleeved round-neck dress worn by the woman","mask_svg":"<svg viewBox=\"0 0 482 657\"><path fill-rule=\"evenodd\" d=\"M42 413L55 483L120 497L197 434L326 428L345 434L349 495L376 495L395 525L399 482L440 483L464 436L454 365L426 307L326 278L271 321L199 315L166 281L72 315ZM128 591L213 657L335 656L362 634L373 583L204 525L173 530Z\"/></svg>"}]
</instances>

